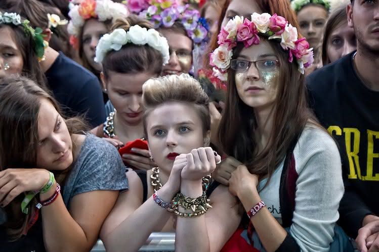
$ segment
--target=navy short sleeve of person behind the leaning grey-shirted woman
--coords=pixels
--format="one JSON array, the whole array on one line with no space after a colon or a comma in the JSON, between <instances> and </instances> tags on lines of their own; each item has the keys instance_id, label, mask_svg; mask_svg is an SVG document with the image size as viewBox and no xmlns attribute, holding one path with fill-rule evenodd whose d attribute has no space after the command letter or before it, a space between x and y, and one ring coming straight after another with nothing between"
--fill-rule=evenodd
<instances>
[{"instance_id":1,"label":"navy short sleeve of person behind the leaning grey-shirted woman","mask_svg":"<svg viewBox=\"0 0 379 252\"><path fill-rule=\"evenodd\" d=\"M99 80L94 76L83 84L76 97L76 111L85 113L92 128L105 121L103 93Z\"/></svg>"}]
</instances>

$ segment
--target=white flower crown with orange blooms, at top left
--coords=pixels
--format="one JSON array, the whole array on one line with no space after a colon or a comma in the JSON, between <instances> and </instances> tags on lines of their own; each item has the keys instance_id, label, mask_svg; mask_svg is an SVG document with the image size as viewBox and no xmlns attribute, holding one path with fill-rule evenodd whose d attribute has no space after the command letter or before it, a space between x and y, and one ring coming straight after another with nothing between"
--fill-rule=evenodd
<instances>
[{"instance_id":1,"label":"white flower crown with orange blooms, at top left","mask_svg":"<svg viewBox=\"0 0 379 252\"><path fill-rule=\"evenodd\" d=\"M96 18L101 22L106 20L116 20L117 18L125 18L129 16L128 8L111 0L83 0L80 4L70 3L70 12L68 16L71 18L67 26L70 34L70 44L78 49L78 37L85 21L90 18Z\"/></svg>"}]
</instances>

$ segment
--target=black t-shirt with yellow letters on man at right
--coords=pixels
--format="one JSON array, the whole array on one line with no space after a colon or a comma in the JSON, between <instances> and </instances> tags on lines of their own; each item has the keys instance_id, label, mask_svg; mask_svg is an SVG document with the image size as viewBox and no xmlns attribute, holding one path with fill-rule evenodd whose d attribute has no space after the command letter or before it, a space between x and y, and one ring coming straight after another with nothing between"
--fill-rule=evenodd
<instances>
[{"instance_id":1,"label":"black t-shirt with yellow letters on man at right","mask_svg":"<svg viewBox=\"0 0 379 252\"><path fill-rule=\"evenodd\" d=\"M340 148L345 195L339 223L355 238L363 218L379 214L379 91L358 77L354 54L315 71L307 85L310 107Z\"/></svg>"}]
</instances>

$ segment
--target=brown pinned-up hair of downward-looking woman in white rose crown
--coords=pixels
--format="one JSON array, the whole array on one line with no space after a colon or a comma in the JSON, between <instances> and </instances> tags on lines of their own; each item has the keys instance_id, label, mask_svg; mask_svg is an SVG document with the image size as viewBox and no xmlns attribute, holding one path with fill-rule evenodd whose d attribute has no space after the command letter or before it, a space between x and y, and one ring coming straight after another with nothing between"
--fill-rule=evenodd
<instances>
[{"instance_id":1,"label":"brown pinned-up hair of downward-looking woman in white rose crown","mask_svg":"<svg viewBox=\"0 0 379 252\"><path fill-rule=\"evenodd\" d=\"M147 20L130 15L127 18L117 19L112 25L111 30L124 29L139 25L146 29L153 29ZM163 56L149 45L137 45L133 43L124 44L119 51L110 51L102 62L105 78L109 78L109 71L116 73L139 73L150 72L159 75L162 72Z\"/></svg>"}]
</instances>

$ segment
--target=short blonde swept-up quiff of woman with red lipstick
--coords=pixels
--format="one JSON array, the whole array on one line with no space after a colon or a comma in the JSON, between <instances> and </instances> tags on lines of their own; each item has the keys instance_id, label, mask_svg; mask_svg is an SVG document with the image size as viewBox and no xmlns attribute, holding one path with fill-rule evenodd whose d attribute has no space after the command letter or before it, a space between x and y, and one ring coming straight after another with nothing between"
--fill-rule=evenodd
<instances>
[{"instance_id":1,"label":"short blonde swept-up quiff of woman with red lipstick","mask_svg":"<svg viewBox=\"0 0 379 252\"><path fill-rule=\"evenodd\" d=\"M166 75L158 78L151 78L142 86L142 103L144 114L142 117L145 136L146 119L159 105L169 102L189 103L195 109L202 121L203 134L210 130L209 99L200 83L189 74Z\"/></svg>"}]
</instances>

